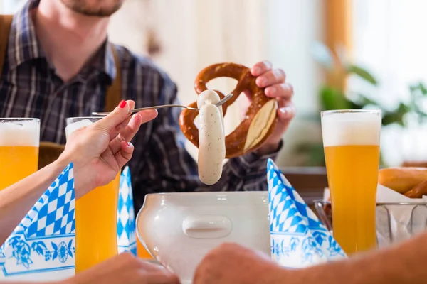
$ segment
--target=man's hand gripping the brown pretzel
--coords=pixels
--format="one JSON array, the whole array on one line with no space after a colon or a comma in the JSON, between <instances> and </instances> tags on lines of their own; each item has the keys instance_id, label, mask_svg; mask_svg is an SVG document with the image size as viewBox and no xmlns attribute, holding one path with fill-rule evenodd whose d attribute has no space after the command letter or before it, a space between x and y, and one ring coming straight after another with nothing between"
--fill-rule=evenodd
<instances>
[{"instance_id":1,"label":"man's hand gripping the brown pretzel","mask_svg":"<svg viewBox=\"0 0 427 284\"><path fill-rule=\"evenodd\" d=\"M285 72L281 69L273 69L268 61L258 62L251 68L251 74L256 78L256 84L265 88L265 95L278 101L278 121L270 138L261 146L257 153L260 155L273 153L278 149L283 133L295 116L295 105L292 104L293 88L285 82ZM246 92L248 99L251 94Z\"/></svg>"}]
</instances>

